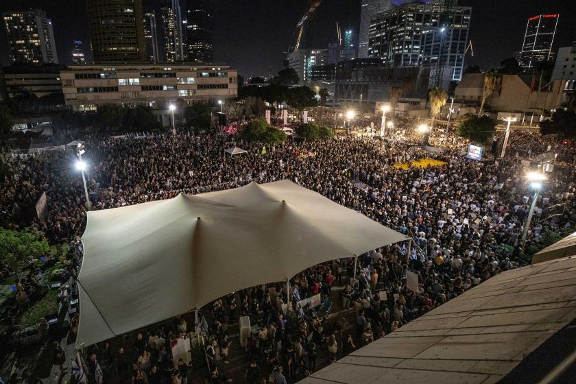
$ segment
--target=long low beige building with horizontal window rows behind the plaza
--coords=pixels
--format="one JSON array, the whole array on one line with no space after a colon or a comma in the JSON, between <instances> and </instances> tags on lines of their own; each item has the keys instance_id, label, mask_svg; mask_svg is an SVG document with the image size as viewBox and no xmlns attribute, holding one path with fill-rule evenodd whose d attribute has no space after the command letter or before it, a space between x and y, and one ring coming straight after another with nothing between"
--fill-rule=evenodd
<instances>
[{"instance_id":1,"label":"long low beige building with horizontal window rows behind the plaza","mask_svg":"<svg viewBox=\"0 0 576 384\"><path fill-rule=\"evenodd\" d=\"M93 112L101 104L166 109L176 101L229 99L237 97L237 76L226 66L195 63L72 66L60 73L64 101L80 112Z\"/></svg>"}]
</instances>

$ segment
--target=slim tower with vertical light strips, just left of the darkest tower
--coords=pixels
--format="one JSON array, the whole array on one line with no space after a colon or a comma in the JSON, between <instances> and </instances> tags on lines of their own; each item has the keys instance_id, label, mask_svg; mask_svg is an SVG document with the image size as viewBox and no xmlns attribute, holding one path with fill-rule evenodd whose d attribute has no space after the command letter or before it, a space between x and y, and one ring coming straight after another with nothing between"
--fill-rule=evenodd
<instances>
[{"instance_id":1,"label":"slim tower with vertical light strips, just left of the darkest tower","mask_svg":"<svg viewBox=\"0 0 576 384\"><path fill-rule=\"evenodd\" d=\"M182 14L179 0L166 0L160 8L164 43L164 58L167 62L184 60L182 40Z\"/></svg>"}]
</instances>

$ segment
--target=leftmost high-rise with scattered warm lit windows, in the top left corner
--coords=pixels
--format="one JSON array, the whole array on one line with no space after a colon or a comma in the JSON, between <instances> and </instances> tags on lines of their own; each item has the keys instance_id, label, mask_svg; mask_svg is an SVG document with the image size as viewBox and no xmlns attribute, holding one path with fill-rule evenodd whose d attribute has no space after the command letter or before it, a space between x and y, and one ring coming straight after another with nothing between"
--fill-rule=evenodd
<instances>
[{"instance_id":1,"label":"leftmost high-rise with scattered warm lit windows, in the top left corner","mask_svg":"<svg viewBox=\"0 0 576 384\"><path fill-rule=\"evenodd\" d=\"M43 10L3 12L14 63L58 63L52 21Z\"/></svg>"}]
</instances>

